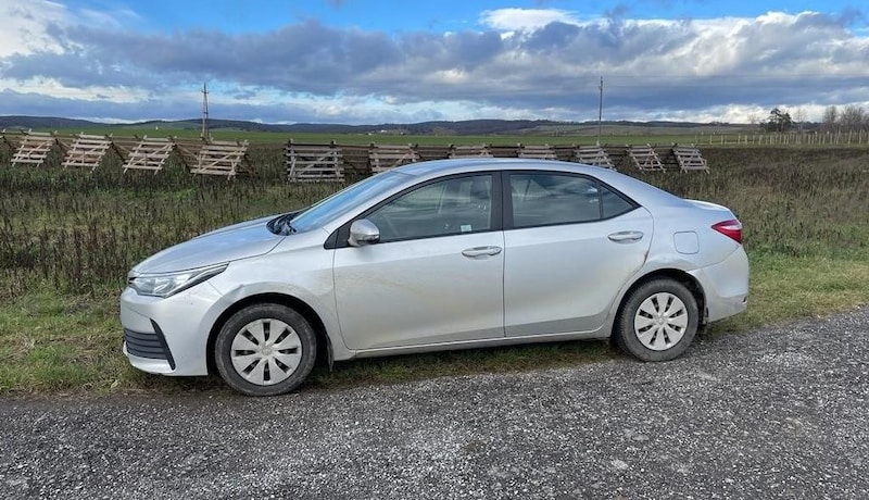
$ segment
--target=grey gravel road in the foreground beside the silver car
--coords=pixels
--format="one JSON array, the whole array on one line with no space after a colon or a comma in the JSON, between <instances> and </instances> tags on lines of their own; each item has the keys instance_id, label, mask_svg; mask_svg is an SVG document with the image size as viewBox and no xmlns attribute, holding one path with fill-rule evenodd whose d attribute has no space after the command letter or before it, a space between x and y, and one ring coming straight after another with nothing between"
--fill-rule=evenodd
<instances>
[{"instance_id":1,"label":"grey gravel road in the foreground beside the silver car","mask_svg":"<svg viewBox=\"0 0 869 500\"><path fill-rule=\"evenodd\" d=\"M0 497L869 498L867 335L861 309L659 364L0 399Z\"/></svg>"}]
</instances>

